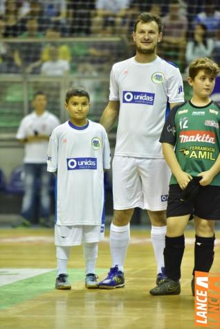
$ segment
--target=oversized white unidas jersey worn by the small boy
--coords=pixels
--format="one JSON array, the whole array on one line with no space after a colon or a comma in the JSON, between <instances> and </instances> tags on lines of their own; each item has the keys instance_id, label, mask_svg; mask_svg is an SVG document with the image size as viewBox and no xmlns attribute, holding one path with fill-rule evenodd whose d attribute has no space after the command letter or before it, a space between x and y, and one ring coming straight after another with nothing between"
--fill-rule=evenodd
<instances>
[{"instance_id":1,"label":"oversized white unidas jersey worn by the small boy","mask_svg":"<svg viewBox=\"0 0 220 329\"><path fill-rule=\"evenodd\" d=\"M107 132L99 123L76 127L70 121L53 130L48 171L57 171L56 224L101 225L104 170L110 168Z\"/></svg>"}]
</instances>

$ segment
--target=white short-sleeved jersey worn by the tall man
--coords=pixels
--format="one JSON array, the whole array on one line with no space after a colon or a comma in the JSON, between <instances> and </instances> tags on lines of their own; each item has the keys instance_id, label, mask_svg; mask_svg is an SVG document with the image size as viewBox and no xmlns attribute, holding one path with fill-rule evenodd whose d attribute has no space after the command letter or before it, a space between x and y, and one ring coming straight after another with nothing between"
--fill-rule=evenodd
<instances>
[{"instance_id":1,"label":"white short-sleeved jersey worn by the tall man","mask_svg":"<svg viewBox=\"0 0 220 329\"><path fill-rule=\"evenodd\" d=\"M115 155L163 158L159 138L169 103L184 102L183 80L161 57L143 64L134 57L113 65L109 100L120 100Z\"/></svg>"}]
</instances>

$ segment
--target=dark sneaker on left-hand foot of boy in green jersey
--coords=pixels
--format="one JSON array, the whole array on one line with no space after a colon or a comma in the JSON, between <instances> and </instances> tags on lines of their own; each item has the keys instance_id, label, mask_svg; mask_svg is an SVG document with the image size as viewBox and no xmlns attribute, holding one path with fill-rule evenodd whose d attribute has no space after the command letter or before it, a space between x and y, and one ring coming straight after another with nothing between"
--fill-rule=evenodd
<instances>
[{"instance_id":1,"label":"dark sneaker on left-hand foot of boy in green jersey","mask_svg":"<svg viewBox=\"0 0 220 329\"><path fill-rule=\"evenodd\" d=\"M149 293L154 296L178 295L181 293L181 284L178 280L174 281L172 278L164 278Z\"/></svg>"}]
</instances>

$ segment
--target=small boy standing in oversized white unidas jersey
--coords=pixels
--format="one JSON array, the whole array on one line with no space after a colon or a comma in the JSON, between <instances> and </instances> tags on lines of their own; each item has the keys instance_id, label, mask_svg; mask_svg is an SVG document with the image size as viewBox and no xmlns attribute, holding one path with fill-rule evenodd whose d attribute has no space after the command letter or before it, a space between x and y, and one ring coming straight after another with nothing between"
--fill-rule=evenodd
<instances>
[{"instance_id":1,"label":"small boy standing in oversized white unidas jersey","mask_svg":"<svg viewBox=\"0 0 220 329\"><path fill-rule=\"evenodd\" d=\"M71 289L66 263L73 245L83 243L87 288L98 288L95 260L104 233L104 169L110 168L107 132L86 118L89 93L66 91L70 120L59 125L48 145L48 171L57 174L55 245L57 289Z\"/></svg>"}]
</instances>

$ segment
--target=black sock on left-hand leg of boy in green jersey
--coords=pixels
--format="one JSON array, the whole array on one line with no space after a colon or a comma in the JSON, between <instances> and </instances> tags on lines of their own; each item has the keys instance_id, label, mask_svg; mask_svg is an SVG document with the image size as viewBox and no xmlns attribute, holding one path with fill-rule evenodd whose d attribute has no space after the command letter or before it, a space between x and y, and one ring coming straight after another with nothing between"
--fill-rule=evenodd
<instances>
[{"instance_id":1,"label":"black sock on left-hand leg of boy in green jersey","mask_svg":"<svg viewBox=\"0 0 220 329\"><path fill-rule=\"evenodd\" d=\"M165 237L165 249L163 251L165 262L165 274L168 278L178 280L181 278L181 263L185 249L184 235L168 238Z\"/></svg>"}]
</instances>

